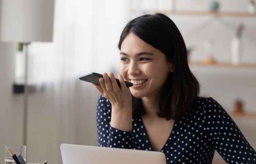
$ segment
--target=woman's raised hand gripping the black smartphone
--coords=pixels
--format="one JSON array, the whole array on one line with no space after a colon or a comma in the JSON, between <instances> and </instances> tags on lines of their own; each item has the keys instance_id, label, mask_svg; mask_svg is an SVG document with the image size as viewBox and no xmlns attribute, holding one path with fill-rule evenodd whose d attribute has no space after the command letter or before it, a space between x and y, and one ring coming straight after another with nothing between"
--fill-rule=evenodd
<instances>
[{"instance_id":1,"label":"woman's raised hand gripping the black smartphone","mask_svg":"<svg viewBox=\"0 0 256 164\"><path fill-rule=\"evenodd\" d=\"M117 85L116 79L113 73L103 73L103 78L99 78L100 85L93 84L99 92L106 97L111 105L112 109L127 109L132 108L132 94L130 89L125 85L122 75L118 75L121 88Z\"/></svg>"}]
</instances>

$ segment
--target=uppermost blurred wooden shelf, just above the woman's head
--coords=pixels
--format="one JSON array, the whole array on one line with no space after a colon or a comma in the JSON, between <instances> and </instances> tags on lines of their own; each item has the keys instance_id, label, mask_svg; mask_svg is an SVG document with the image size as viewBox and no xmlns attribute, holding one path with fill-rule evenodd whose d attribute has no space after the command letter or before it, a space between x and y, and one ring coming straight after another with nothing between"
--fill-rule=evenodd
<instances>
[{"instance_id":1,"label":"uppermost blurred wooden shelf, just above the woman's head","mask_svg":"<svg viewBox=\"0 0 256 164\"><path fill-rule=\"evenodd\" d=\"M138 10L133 9L132 12L136 13ZM147 9L142 10L144 14L147 13L165 13L172 15L188 15L188 16L233 16L233 17L256 17L256 13L248 13L248 12L231 12L231 11L173 11L173 10L153 10Z\"/></svg>"}]
</instances>

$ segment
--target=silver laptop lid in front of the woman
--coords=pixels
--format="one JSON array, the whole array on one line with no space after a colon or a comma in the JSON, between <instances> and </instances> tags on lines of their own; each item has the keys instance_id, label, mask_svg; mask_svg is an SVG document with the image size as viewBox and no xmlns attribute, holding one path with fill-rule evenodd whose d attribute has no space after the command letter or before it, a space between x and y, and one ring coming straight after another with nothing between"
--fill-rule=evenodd
<instances>
[{"instance_id":1,"label":"silver laptop lid in front of the woman","mask_svg":"<svg viewBox=\"0 0 256 164\"><path fill-rule=\"evenodd\" d=\"M61 144L63 164L166 164L165 154L121 148Z\"/></svg>"}]
</instances>

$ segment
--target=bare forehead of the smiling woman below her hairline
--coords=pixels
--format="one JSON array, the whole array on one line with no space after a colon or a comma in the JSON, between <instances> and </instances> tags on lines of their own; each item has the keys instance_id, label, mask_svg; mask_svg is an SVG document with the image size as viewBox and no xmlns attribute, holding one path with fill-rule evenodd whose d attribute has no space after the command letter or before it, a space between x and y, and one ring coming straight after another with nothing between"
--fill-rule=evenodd
<instances>
[{"instance_id":1,"label":"bare forehead of the smiling woman below her hairline","mask_svg":"<svg viewBox=\"0 0 256 164\"><path fill-rule=\"evenodd\" d=\"M136 54L142 51L156 52L157 49L144 42L133 33L128 34L121 44L121 51L127 54Z\"/></svg>"}]
</instances>

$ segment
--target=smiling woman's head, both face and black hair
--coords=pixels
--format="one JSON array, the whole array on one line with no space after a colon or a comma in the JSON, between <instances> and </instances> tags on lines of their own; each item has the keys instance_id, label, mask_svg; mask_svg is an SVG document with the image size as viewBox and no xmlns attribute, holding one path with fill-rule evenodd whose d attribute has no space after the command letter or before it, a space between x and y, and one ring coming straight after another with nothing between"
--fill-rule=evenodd
<instances>
[{"instance_id":1,"label":"smiling woman's head, both face and black hair","mask_svg":"<svg viewBox=\"0 0 256 164\"><path fill-rule=\"evenodd\" d=\"M142 90L142 85L130 89L135 106L143 102L153 104L149 108L159 109L158 116L170 120L181 117L193 105L199 83L189 70L180 31L167 16L155 14L133 19L125 26L118 48L120 72L125 80L148 80L143 85L145 89ZM123 58L124 55L129 58ZM133 115L145 113L144 108L138 108Z\"/></svg>"}]
</instances>

